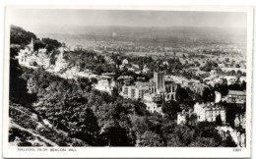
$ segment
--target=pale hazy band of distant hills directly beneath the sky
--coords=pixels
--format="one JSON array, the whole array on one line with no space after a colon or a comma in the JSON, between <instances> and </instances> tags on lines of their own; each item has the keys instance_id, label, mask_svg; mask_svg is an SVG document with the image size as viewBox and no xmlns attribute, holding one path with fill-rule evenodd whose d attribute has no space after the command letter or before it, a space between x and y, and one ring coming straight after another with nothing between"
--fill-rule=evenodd
<instances>
[{"instance_id":1,"label":"pale hazy band of distant hills directly beneath the sky","mask_svg":"<svg viewBox=\"0 0 256 159\"><path fill-rule=\"evenodd\" d=\"M130 28L131 30L134 28L138 28L138 29L142 29L142 28L146 28L146 29L173 29L173 31L175 30L189 30L189 28L191 29L203 29L203 30L207 30L207 29L217 29L216 31L218 32L218 30L220 31L227 31L227 32L231 32L233 34L246 34L246 27L196 27L196 26L165 26L165 27L136 27L136 26L85 26L85 25L56 25L56 24L43 24L43 25L38 25L38 24L34 24L34 25L29 25L29 26L21 26L21 25L17 25L17 24L11 24L12 26L16 26L16 27L22 27L27 31L31 31L35 34L47 34L47 33L56 33L56 34L74 34L74 33L85 33L85 31L91 31L92 29L111 29L111 28ZM85 29L83 29L85 28ZM86 30L86 29L89 30ZM215 31L215 30L214 30Z\"/></svg>"}]
</instances>

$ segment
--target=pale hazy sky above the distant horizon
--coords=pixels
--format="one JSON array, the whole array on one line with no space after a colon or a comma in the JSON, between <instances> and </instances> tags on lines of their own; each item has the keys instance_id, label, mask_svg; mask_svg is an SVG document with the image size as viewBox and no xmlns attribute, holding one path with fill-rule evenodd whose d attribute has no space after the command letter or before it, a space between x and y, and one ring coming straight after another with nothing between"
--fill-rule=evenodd
<instances>
[{"instance_id":1,"label":"pale hazy sky above the distant horizon","mask_svg":"<svg viewBox=\"0 0 256 159\"><path fill-rule=\"evenodd\" d=\"M128 27L246 27L246 13L188 11L16 10L12 24Z\"/></svg>"}]
</instances>

